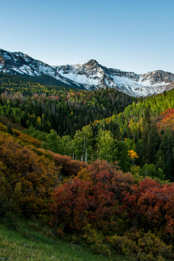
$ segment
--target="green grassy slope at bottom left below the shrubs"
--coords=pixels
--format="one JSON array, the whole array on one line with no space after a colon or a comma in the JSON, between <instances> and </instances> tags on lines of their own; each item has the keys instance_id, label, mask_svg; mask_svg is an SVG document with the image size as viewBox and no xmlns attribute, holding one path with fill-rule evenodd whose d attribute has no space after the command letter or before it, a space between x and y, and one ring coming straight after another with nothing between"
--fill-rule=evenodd
<instances>
[{"instance_id":1,"label":"green grassy slope at bottom left below the shrubs","mask_svg":"<svg viewBox=\"0 0 174 261\"><path fill-rule=\"evenodd\" d=\"M39 223L20 220L15 230L0 225L0 260L135 261L136 259L125 258L123 255L109 258L94 253L90 246L55 239L51 230L40 226Z\"/></svg>"}]
</instances>

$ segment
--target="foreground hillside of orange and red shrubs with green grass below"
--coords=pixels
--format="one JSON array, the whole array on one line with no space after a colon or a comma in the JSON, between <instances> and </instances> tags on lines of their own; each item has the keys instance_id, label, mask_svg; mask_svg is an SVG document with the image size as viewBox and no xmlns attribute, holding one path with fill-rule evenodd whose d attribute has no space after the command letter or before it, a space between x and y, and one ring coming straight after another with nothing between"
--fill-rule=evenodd
<instances>
[{"instance_id":1,"label":"foreground hillside of orange and red shrubs with green grass below","mask_svg":"<svg viewBox=\"0 0 174 261\"><path fill-rule=\"evenodd\" d=\"M49 260L51 256L61 260L66 255L67 260L81 260L86 255L86 260L89 256L114 261L127 260L124 255L129 255L132 261L173 260L173 184L123 173L117 165L100 160L84 166L73 161L82 168L63 177L57 160L60 155L35 148L39 141L15 129L11 136L6 134L8 130L1 124L0 219L8 226L6 230L1 225L2 258ZM155 224L144 209L147 205ZM9 233L9 228L16 231ZM166 238L166 233L171 237ZM60 237L64 239L60 241ZM77 245L65 243L65 239ZM86 251L79 246L82 242Z\"/></svg>"}]
</instances>

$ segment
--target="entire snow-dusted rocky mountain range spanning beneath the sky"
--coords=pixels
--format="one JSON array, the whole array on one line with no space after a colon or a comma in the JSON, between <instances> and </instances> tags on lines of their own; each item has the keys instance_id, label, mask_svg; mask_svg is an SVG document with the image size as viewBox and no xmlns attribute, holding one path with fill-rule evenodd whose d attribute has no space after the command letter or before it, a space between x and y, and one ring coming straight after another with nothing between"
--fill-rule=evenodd
<instances>
[{"instance_id":1,"label":"entire snow-dusted rocky mountain range spanning beneath the sky","mask_svg":"<svg viewBox=\"0 0 174 261\"><path fill-rule=\"evenodd\" d=\"M174 74L157 70L145 74L106 68L95 60L77 65L50 66L22 52L0 49L0 72L35 77L45 84L74 88L116 88L134 97L163 93L174 87Z\"/></svg>"}]
</instances>

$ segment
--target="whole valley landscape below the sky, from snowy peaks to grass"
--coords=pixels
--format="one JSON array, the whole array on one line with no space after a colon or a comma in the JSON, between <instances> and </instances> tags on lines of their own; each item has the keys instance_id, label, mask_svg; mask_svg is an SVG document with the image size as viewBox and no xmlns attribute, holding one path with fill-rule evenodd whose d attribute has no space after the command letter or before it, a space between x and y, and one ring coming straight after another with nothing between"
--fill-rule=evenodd
<instances>
[{"instance_id":1,"label":"whole valley landscape below the sky, from snowy peaks to grass","mask_svg":"<svg viewBox=\"0 0 174 261\"><path fill-rule=\"evenodd\" d=\"M173 261L173 87L1 49L0 260Z\"/></svg>"}]
</instances>

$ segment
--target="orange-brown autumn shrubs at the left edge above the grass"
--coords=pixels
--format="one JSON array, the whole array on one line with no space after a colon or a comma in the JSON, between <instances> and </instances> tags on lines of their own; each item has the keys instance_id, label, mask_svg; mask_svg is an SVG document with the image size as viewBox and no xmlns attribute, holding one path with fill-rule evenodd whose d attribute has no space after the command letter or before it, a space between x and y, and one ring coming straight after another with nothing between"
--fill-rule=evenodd
<instances>
[{"instance_id":1,"label":"orange-brown autumn shrubs at the left edge above the grass","mask_svg":"<svg viewBox=\"0 0 174 261\"><path fill-rule=\"evenodd\" d=\"M6 205L26 216L48 214L59 169L8 134L0 134L0 152L1 210Z\"/></svg>"}]
</instances>

